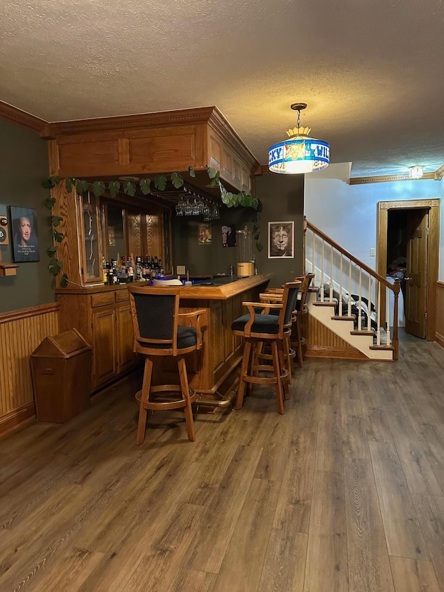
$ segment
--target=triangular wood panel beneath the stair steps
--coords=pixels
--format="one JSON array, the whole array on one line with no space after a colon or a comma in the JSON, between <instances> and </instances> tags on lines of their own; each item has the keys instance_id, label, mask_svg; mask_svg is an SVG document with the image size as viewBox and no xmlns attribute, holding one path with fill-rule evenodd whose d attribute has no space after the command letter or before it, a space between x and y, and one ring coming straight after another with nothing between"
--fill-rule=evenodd
<instances>
[{"instance_id":1,"label":"triangular wood panel beneath the stair steps","mask_svg":"<svg viewBox=\"0 0 444 592\"><path fill-rule=\"evenodd\" d=\"M347 360L366 360L366 356L338 337L311 314L302 316L306 325L302 335L307 336L307 355L312 357L341 357Z\"/></svg>"}]
</instances>

